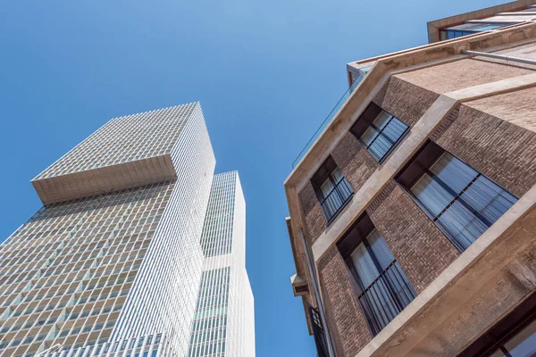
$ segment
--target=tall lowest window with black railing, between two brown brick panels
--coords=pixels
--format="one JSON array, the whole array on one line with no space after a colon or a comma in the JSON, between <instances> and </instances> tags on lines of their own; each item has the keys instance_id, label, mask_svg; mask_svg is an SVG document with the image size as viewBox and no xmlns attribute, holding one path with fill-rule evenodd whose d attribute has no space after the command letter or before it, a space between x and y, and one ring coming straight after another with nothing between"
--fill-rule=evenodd
<instances>
[{"instance_id":1,"label":"tall lowest window with black railing, between two brown brick panels","mask_svg":"<svg viewBox=\"0 0 536 357\"><path fill-rule=\"evenodd\" d=\"M373 336L416 296L372 220L364 214L338 243L356 278L358 300Z\"/></svg>"}]
</instances>

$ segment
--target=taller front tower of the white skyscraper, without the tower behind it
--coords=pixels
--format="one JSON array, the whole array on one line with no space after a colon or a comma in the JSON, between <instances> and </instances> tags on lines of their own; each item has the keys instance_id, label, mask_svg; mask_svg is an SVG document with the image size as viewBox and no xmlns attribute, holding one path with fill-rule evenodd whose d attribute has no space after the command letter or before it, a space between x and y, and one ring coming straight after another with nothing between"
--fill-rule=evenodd
<instances>
[{"instance_id":1,"label":"taller front tower of the white skyscraper, without the tower behind it","mask_svg":"<svg viewBox=\"0 0 536 357\"><path fill-rule=\"evenodd\" d=\"M161 181L103 194L72 174L161 154L171 180L148 165ZM111 120L38 175L84 196L46 203L0 245L0 355L185 356L214 166L201 107L187 104ZM113 179L121 168L92 179L126 182ZM42 199L62 191L49 182Z\"/></svg>"}]
</instances>

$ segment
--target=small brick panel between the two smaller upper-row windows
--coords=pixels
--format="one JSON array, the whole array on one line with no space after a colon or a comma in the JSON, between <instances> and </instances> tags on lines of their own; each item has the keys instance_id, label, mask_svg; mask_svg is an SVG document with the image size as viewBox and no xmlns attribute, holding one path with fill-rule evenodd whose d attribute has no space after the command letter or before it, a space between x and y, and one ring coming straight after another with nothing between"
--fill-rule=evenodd
<instances>
[{"instance_id":1,"label":"small brick panel between the two smaller upper-row windows","mask_svg":"<svg viewBox=\"0 0 536 357\"><path fill-rule=\"evenodd\" d=\"M345 178L357 192L364 182L371 177L378 163L373 156L366 151L363 145L347 133L331 153L331 157L337 163Z\"/></svg>"}]
</instances>

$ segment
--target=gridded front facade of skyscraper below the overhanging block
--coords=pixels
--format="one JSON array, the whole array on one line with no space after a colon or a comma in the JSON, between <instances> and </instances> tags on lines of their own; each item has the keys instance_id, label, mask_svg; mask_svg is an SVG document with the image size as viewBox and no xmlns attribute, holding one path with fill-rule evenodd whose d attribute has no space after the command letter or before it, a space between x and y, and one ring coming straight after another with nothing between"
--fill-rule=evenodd
<instances>
[{"instance_id":1,"label":"gridded front facade of skyscraper below the overhanging block","mask_svg":"<svg viewBox=\"0 0 536 357\"><path fill-rule=\"evenodd\" d=\"M173 187L57 204L17 229L0 247L0 351L107 341Z\"/></svg>"}]
</instances>

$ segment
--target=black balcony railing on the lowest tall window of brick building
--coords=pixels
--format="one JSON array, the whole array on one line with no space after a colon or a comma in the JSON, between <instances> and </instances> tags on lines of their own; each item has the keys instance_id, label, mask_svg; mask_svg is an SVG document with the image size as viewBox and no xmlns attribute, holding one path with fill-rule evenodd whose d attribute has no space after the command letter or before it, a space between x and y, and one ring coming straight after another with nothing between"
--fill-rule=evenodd
<instances>
[{"instance_id":1,"label":"black balcony railing on the lowest tall window of brick building","mask_svg":"<svg viewBox=\"0 0 536 357\"><path fill-rule=\"evenodd\" d=\"M415 296L415 290L398 262L391 262L358 297L373 336L397 317Z\"/></svg>"}]
</instances>

